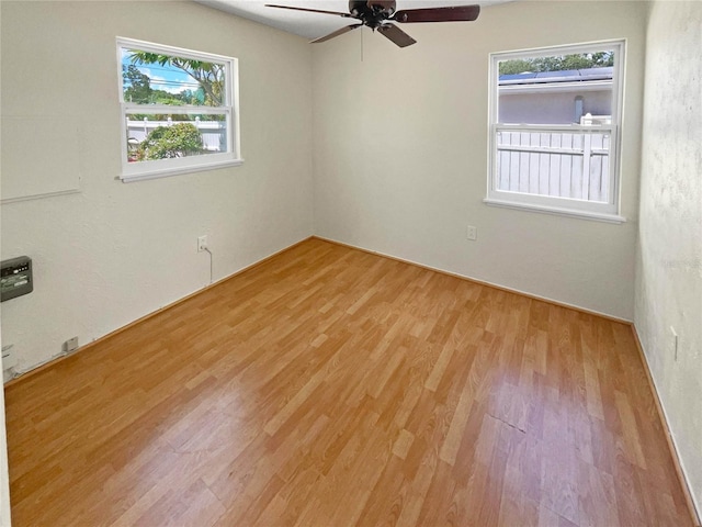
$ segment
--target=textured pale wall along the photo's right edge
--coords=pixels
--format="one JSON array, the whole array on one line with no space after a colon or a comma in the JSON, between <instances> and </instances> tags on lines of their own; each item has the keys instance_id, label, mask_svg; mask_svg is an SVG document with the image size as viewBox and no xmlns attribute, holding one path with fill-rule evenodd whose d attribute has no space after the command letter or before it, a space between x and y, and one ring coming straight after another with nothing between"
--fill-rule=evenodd
<instances>
[{"instance_id":1,"label":"textured pale wall along the photo's right edge","mask_svg":"<svg viewBox=\"0 0 702 527\"><path fill-rule=\"evenodd\" d=\"M635 325L702 511L702 3L655 2L646 49Z\"/></svg>"}]
</instances>

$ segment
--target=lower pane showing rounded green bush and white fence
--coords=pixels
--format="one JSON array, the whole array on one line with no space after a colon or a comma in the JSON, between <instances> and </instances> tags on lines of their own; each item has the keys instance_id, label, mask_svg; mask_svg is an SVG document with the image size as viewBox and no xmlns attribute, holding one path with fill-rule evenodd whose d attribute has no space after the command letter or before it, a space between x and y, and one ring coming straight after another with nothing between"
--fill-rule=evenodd
<instances>
[{"instance_id":1,"label":"lower pane showing rounded green bush and white fence","mask_svg":"<svg viewBox=\"0 0 702 527\"><path fill-rule=\"evenodd\" d=\"M228 152L226 114L126 114L129 162Z\"/></svg>"}]
</instances>

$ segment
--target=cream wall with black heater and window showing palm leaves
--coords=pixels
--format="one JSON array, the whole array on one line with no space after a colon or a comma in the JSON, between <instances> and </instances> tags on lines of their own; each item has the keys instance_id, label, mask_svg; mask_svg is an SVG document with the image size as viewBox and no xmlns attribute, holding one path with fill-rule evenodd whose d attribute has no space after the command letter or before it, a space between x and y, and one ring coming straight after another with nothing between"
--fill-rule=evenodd
<instances>
[{"instance_id":1,"label":"cream wall with black heater and window showing palm leaves","mask_svg":"<svg viewBox=\"0 0 702 527\"><path fill-rule=\"evenodd\" d=\"M194 2L0 2L2 115L75 122L82 192L2 205L2 258L34 292L2 303L19 370L313 234L307 42ZM122 183L115 37L239 58L244 166ZM25 156L42 156L26 147ZM66 167L56 167L65 170ZM29 172L27 178L37 177Z\"/></svg>"}]
</instances>

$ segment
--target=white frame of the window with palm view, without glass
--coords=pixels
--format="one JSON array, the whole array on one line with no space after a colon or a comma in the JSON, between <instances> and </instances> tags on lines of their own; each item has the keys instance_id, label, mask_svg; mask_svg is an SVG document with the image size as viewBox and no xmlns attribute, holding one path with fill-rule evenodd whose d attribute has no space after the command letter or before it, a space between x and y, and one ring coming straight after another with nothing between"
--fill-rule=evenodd
<instances>
[{"instance_id":1,"label":"white frame of the window with palm view, without glass","mask_svg":"<svg viewBox=\"0 0 702 527\"><path fill-rule=\"evenodd\" d=\"M162 55L172 55L181 58L191 58L208 63L217 63L225 66L225 101L222 106L200 105L169 105L169 104L138 104L124 100L124 79L122 76L122 51L138 49ZM224 55L215 55L205 52L195 52L181 47L156 44L152 42L137 41L118 36L116 38L117 51L117 87L120 97L121 120L121 156L122 170L118 176L124 182L145 179L165 178L182 173L214 170L223 167L236 167L244 162L240 156L239 142L239 75L238 59ZM139 114L216 114L225 115L227 152L200 156L186 156L173 159L156 159L139 162L129 162L127 158L127 115Z\"/></svg>"}]
</instances>

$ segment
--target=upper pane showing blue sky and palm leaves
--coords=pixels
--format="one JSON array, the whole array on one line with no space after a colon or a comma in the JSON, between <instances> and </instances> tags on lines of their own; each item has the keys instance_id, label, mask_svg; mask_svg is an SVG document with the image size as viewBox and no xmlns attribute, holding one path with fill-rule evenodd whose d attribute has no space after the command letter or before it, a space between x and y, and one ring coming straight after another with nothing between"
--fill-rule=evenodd
<instances>
[{"instance_id":1,"label":"upper pane showing blue sky and palm leaves","mask_svg":"<svg viewBox=\"0 0 702 527\"><path fill-rule=\"evenodd\" d=\"M124 102L223 106L226 66L140 49L122 51Z\"/></svg>"}]
</instances>

